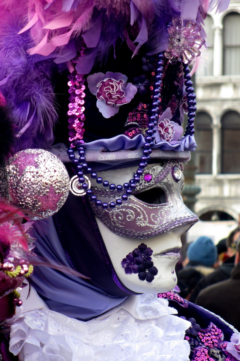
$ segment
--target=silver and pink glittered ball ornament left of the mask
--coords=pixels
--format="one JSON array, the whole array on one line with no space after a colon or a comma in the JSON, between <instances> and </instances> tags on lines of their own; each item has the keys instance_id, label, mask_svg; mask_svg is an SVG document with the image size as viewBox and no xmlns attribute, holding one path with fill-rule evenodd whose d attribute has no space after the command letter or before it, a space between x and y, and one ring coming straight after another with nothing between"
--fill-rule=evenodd
<instances>
[{"instance_id":1,"label":"silver and pink glittered ball ornament left of the mask","mask_svg":"<svg viewBox=\"0 0 240 361\"><path fill-rule=\"evenodd\" d=\"M36 214L31 219L47 218L58 212L69 192L65 166L43 149L26 149L10 158L8 183L13 202Z\"/></svg>"}]
</instances>

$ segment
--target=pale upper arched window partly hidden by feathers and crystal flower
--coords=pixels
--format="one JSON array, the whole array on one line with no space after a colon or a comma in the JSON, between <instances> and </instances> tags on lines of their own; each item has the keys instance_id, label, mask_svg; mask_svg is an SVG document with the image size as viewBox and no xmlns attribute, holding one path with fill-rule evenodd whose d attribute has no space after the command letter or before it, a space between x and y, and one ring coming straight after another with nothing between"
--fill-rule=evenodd
<instances>
[{"instance_id":1,"label":"pale upper arched window partly hidden by feathers and crystal flower","mask_svg":"<svg viewBox=\"0 0 240 361\"><path fill-rule=\"evenodd\" d=\"M213 39L214 39L214 32L213 32L213 19L210 15L206 17L204 20L204 30L206 31L207 38L206 41L210 45L206 52L204 53L205 64L203 69L200 70L199 75L213 75Z\"/></svg>"}]
</instances>

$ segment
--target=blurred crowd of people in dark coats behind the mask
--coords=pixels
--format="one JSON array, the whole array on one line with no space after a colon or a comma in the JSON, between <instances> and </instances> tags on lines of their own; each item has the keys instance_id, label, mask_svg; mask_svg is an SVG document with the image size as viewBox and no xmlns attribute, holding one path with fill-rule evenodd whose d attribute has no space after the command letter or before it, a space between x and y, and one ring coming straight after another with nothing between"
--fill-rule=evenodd
<instances>
[{"instance_id":1,"label":"blurred crowd of people in dark coats behind the mask","mask_svg":"<svg viewBox=\"0 0 240 361\"><path fill-rule=\"evenodd\" d=\"M180 253L176 267L180 296L240 331L240 227L217 245L201 236Z\"/></svg>"}]
</instances>

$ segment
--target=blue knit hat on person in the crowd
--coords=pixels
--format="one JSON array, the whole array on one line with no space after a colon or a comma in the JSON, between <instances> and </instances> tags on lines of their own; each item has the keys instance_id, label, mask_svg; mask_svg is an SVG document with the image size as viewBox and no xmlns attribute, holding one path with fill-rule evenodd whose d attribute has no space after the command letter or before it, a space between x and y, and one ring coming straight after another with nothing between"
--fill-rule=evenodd
<instances>
[{"instance_id":1,"label":"blue knit hat on person in the crowd","mask_svg":"<svg viewBox=\"0 0 240 361\"><path fill-rule=\"evenodd\" d=\"M201 236L190 244L187 256L191 262L210 267L217 260L217 247L212 239Z\"/></svg>"}]
</instances>

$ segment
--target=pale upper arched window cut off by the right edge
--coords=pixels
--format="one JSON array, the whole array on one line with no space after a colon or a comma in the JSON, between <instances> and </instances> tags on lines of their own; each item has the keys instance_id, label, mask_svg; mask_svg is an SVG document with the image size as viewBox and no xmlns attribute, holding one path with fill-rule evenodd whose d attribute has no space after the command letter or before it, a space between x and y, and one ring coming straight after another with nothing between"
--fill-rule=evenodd
<instances>
[{"instance_id":1,"label":"pale upper arched window cut off by the right edge","mask_svg":"<svg viewBox=\"0 0 240 361\"><path fill-rule=\"evenodd\" d=\"M223 74L240 74L240 14L229 13L223 19Z\"/></svg>"}]
</instances>

